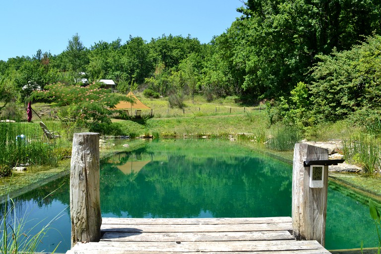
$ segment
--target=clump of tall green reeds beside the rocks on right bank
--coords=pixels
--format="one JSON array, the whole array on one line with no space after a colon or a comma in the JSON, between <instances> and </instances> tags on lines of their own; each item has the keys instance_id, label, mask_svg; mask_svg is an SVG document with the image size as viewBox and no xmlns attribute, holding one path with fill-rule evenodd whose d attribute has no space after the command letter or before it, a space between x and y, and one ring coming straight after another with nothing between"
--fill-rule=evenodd
<instances>
[{"instance_id":1,"label":"clump of tall green reeds beside the rocks on right bank","mask_svg":"<svg viewBox=\"0 0 381 254\"><path fill-rule=\"evenodd\" d=\"M360 133L343 139L343 154L348 162L360 165L366 173L380 167L380 144L374 135Z\"/></svg>"}]
</instances>

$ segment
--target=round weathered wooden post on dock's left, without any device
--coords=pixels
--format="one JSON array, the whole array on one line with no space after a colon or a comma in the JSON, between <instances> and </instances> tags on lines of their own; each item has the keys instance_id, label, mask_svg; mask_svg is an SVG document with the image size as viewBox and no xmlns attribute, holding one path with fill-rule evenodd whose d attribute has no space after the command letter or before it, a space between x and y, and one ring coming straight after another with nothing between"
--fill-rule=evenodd
<instances>
[{"instance_id":1,"label":"round weathered wooden post on dock's left, without any device","mask_svg":"<svg viewBox=\"0 0 381 254\"><path fill-rule=\"evenodd\" d=\"M71 247L77 242L99 242L99 133L74 133L70 164Z\"/></svg>"}]
</instances>

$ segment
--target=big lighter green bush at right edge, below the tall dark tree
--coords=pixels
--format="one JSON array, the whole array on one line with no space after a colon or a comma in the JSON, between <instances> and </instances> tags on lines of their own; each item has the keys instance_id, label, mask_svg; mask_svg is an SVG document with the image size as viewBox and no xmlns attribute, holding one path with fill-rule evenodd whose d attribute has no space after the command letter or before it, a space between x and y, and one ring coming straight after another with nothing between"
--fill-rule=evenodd
<instances>
[{"instance_id":1,"label":"big lighter green bush at right edge, below the tall dark tree","mask_svg":"<svg viewBox=\"0 0 381 254\"><path fill-rule=\"evenodd\" d=\"M380 42L375 35L352 50L319 56L312 69L311 104L313 114L335 122L356 111L380 111ZM361 118L361 117L360 117Z\"/></svg>"}]
</instances>

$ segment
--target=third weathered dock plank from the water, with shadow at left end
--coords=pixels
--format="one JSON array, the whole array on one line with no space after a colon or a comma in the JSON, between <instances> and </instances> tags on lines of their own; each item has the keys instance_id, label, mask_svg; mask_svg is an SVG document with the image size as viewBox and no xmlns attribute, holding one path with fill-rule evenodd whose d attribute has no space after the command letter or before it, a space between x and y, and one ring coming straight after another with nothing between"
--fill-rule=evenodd
<instances>
[{"instance_id":1,"label":"third weathered dock plank from the water, with shadow at left end","mask_svg":"<svg viewBox=\"0 0 381 254\"><path fill-rule=\"evenodd\" d=\"M126 233L106 232L101 241L115 242L215 242L215 241L294 240L288 231L200 232L200 233Z\"/></svg>"}]
</instances>

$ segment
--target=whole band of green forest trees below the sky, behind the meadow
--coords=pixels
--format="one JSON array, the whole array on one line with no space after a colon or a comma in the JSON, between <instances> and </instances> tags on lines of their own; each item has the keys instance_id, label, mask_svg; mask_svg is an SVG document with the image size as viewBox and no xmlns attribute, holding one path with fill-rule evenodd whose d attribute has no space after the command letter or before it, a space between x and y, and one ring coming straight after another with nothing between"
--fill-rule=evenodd
<instances>
[{"instance_id":1,"label":"whole band of green forest trees below the sky, behind the meadow","mask_svg":"<svg viewBox=\"0 0 381 254\"><path fill-rule=\"evenodd\" d=\"M37 50L0 61L0 100L113 79L122 93L138 86L154 96L273 100L278 119L300 126L379 114L380 0L248 0L237 11L207 44L170 34L86 48L75 34L59 55Z\"/></svg>"}]
</instances>

